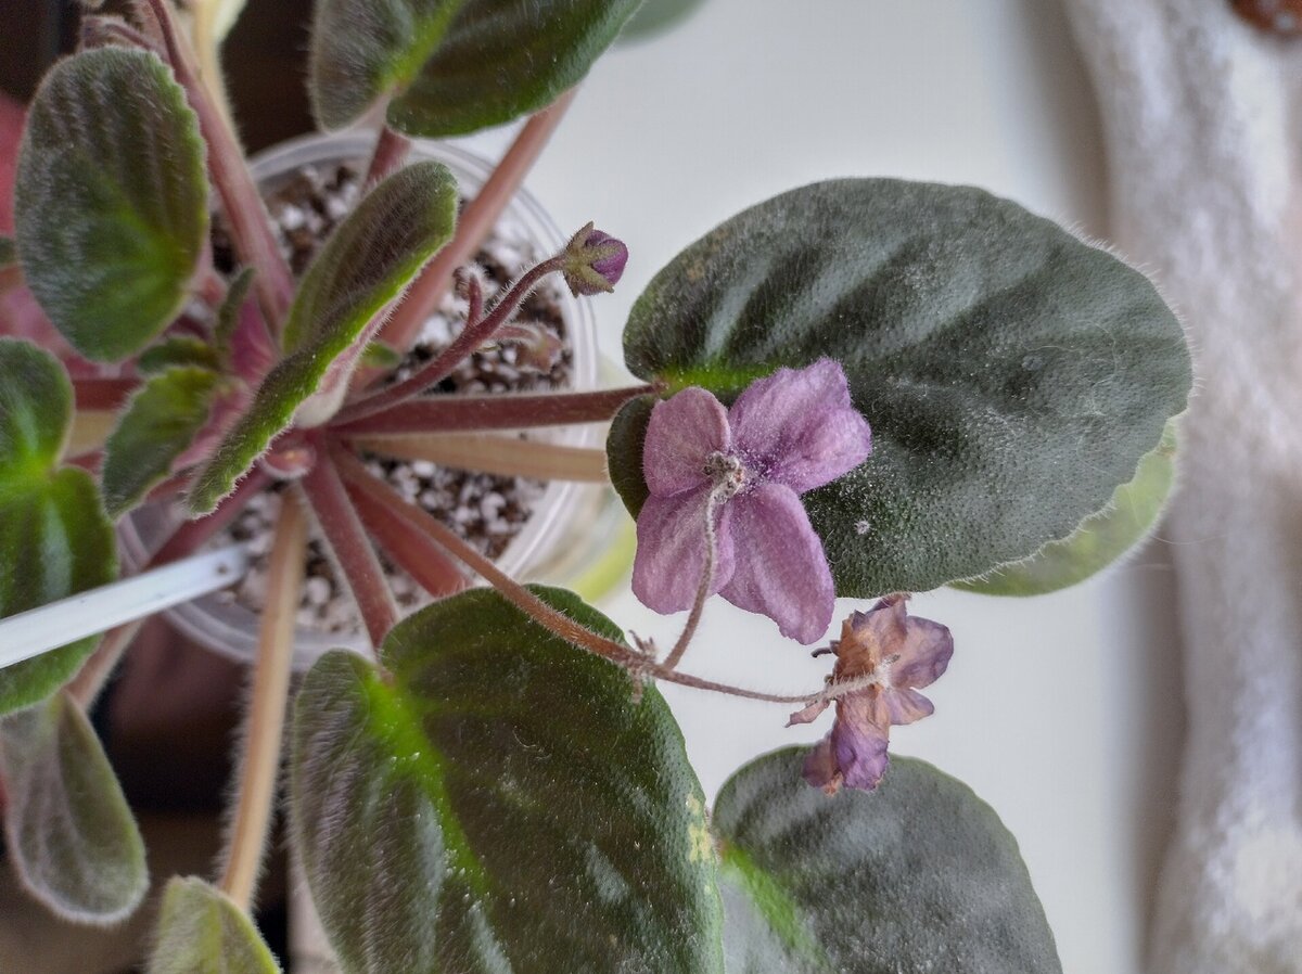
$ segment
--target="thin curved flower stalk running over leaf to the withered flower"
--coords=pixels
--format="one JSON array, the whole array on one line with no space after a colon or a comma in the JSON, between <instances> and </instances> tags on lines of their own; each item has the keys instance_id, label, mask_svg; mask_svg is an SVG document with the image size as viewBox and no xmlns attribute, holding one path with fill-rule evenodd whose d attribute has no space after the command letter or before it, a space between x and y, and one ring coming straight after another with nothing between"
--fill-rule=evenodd
<instances>
[{"instance_id":1,"label":"thin curved flower stalk running over leaf to the withered flower","mask_svg":"<svg viewBox=\"0 0 1302 974\"><path fill-rule=\"evenodd\" d=\"M713 680L703 680L690 673L680 673L647 658L644 654L628 646L607 639L604 635L594 633L591 629L579 625L562 612L557 612L546 602L534 595L529 589L499 569L490 559L480 555L470 544L464 542L456 533L437 521L432 514L418 507L409 504L402 496L387 483L372 477L357 457L346 451L333 453L339 474L348 487L353 501L357 504L362 518L396 518L408 530L426 535L430 542L443 548L467 568L487 581L497 594L506 602L527 615L540 626L561 637L566 642L587 650L616 665L628 669L638 677L654 677L697 690L711 690L713 693L728 694L729 697L743 697L751 701L767 703L809 703L814 699L831 699L842 693L858 689L858 684L828 685L814 693L805 694L772 694L758 690L747 690L741 686L730 686Z\"/></svg>"}]
</instances>

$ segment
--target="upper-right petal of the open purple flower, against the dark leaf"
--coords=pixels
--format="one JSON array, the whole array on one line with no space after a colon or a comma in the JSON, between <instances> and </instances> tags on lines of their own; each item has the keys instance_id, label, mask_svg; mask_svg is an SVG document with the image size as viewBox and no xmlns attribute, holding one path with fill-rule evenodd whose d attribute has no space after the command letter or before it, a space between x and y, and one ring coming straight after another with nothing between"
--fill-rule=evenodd
<instances>
[{"instance_id":1,"label":"upper-right petal of the open purple flower, against the dark leaf","mask_svg":"<svg viewBox=\"0 0 1302 974\"><path fill-rule=\"evenodd\" d=\"M797 494L835 480L872 451L872 434L850 402L845 372L831 358L779 369L751 383L728 422L747 466Z\"/></svg>"}]
</instances>

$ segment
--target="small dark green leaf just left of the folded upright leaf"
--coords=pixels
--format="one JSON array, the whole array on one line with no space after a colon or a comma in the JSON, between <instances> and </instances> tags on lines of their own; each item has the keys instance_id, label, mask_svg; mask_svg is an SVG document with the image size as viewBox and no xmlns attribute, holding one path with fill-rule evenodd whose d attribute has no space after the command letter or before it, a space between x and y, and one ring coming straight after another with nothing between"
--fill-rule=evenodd
<instances>
[{"instance_id":1,"label":"small dark green leaf just left of the folded upright leaf","mask_svg":"<svg viewBox=\"0 0 1302 974\"><path fill-rule=\"evenodd\" d=\"M150 487L167 479L172 464L208 422L220 383L208 369L177 366L152 376L132 396L104 444L104 507L109 517L121 517Z\"/></svg>"}]
</instances>

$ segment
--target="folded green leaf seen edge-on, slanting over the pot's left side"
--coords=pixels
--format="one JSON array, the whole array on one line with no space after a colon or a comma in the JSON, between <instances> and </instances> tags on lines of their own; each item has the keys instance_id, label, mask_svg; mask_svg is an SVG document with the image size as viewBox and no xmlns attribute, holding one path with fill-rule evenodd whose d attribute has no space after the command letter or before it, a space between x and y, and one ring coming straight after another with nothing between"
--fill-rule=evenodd
<instances>
[{"instance_id":1,"label":"folded green leaf seen edge-on, slanting over the pot's left side","mask_svg":"<svg viewBox=\"0 0 1302 974\"><path fill-rule=\"evenodd\" d=\"M303 275L285 323L286 357L199 474L194 513L217 505L346 354L355 365L379 313L450 240L456 219L456 180L434 161L389 176L349 214Z\"/></svg>"}]
</instances>

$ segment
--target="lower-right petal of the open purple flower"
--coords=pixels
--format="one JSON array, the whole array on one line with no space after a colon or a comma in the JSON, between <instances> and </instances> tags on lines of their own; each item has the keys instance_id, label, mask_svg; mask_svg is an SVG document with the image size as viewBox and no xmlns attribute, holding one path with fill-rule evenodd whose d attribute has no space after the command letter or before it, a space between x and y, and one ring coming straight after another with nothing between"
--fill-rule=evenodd
<instances>
[{"instance_id":1,"label":"lower-right petal of the open purple flower","mask_svg":"<svg viewBox=\"0 0 1302 974\"><path fill-rule=\"evenodd\" d=\"M760 483L729 500L724 510L732 514L736 566L720 594L733 605L768 616L783 635L805 645L820 639L832 621L836 592L823 542L801 499L790 487Z\"/></svg>"}]
</instances>

